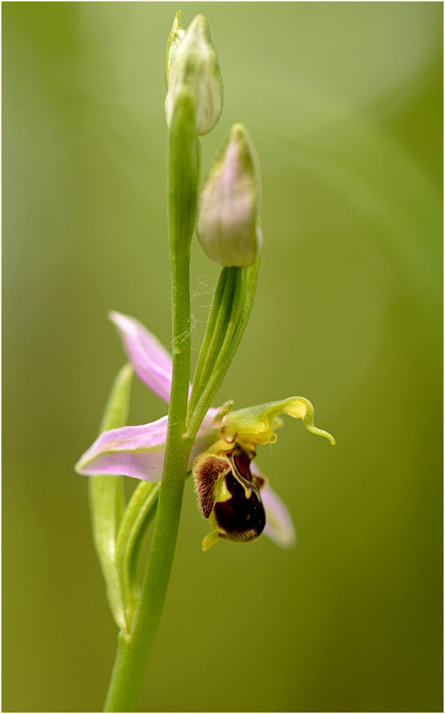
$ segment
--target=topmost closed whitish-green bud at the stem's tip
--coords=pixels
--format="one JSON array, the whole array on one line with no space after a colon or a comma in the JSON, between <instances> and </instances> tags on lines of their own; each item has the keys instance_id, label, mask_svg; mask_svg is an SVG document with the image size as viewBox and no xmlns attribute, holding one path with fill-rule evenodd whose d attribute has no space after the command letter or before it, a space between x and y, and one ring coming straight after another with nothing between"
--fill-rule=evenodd
<instances>
[{"instance_id":1,"label":"topmost closed whitish-green bud at the stem's tip","mask_svg":"<svg viewBox=\"0 0 445 714\"><path fill-rule=\"evenodd\" d=\"M221 116L223 86L209 24L203 15L197 15L184 34L176 14L167 42L166 79L167 124L170 126L176 97L185 85L195 102L196 131L211 131Z\"/></svg>"}]
</instances>

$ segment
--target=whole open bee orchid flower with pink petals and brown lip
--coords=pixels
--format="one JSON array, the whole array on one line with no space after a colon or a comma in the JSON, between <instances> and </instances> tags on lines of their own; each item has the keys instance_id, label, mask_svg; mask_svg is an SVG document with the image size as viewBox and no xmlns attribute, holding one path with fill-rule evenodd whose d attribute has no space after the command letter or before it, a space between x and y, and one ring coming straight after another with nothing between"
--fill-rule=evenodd
<instances>
[{"instance_id":1,"label":"whole open bee orchid flower with pink petals and brown lip","mask_svg":"<svg viewBox=\"0 0 445 714\"><path fill-rule=\"evenodd\" d=\"M139 321L110 313L137 376L164 401L171 390L171 357ZM312 433L334 438L314 426L314 408L302 397L233 411L233 402L206 413L191 451L199 507L211 533L203 550L220 538L246 542L262 532L287 548L295 531L289 511L254 464L256 447L274 443L280 414L301 418ZM161 481L167 434L166 416L141 426L125 426L101 433L76 464L84 476L131 476Z\"/></svg>"}]
</instances>

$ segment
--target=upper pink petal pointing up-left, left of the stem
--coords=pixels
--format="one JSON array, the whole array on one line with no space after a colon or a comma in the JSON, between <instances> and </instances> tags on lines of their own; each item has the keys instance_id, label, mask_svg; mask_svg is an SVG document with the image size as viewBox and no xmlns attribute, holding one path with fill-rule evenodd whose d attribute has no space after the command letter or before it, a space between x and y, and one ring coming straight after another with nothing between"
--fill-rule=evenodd
<instances>
[{"instance_id":1,"label":"upper pink petal pointing up-left, left of the stem","mask_svg":"<svg viewBox=\"0 0 445 714\"><path fill-rule=\"evenodd\" d=\"M129 361L141 381L161 399L169 402L171 390L171 356L159 340L138 320L118 312L109 313L116 325Z\"/></svg>"}]
</instances>

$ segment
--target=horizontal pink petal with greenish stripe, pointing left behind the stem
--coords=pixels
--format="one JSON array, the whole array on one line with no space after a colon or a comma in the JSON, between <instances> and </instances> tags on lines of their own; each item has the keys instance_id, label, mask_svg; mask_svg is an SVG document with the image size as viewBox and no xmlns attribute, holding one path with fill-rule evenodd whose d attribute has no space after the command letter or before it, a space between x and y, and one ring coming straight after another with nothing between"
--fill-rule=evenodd
<instances>
[{"instance_id":1,"label":"horizontal pink petal with greenish stripe, pointing left behind the stem","mask_svg":"<svg viewBox=\"0 0 445 714\"><path fill-rule=\"evenodd\" d=\"M131 476L142 481L161 481L168 417L141 426L104 431L76 463L81 476ZM204 418L191 451L189 468L196 456L217 438L211 415Z\"/></svg>"}]
</instances>

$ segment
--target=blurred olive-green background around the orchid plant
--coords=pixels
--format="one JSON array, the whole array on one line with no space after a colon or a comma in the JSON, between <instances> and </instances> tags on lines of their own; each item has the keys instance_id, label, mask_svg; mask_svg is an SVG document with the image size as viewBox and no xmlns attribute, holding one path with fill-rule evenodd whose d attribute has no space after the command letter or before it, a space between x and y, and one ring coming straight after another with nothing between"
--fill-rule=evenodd
<instances>
[{"instance_id":1,"label":"blurred olive-green background around the orchid plant","mask_svg":"<svg viewBox=\"0 0 445 714\"><path fill-rule=\"evenodd\" d=\"M3 4L4 711L99 711L116 628L74 463L124 363L171 340L174 3ZM441 3L185 3L259 152L264 252L217 403L301 394L258 463L296 547L201 553L187 485L141 711L441 711ZM195 243L199 348L217 267ZM216 406L217 406L216 403ZM141 383L131 423L165 406Z\"/></svg>"}]
</instances>

